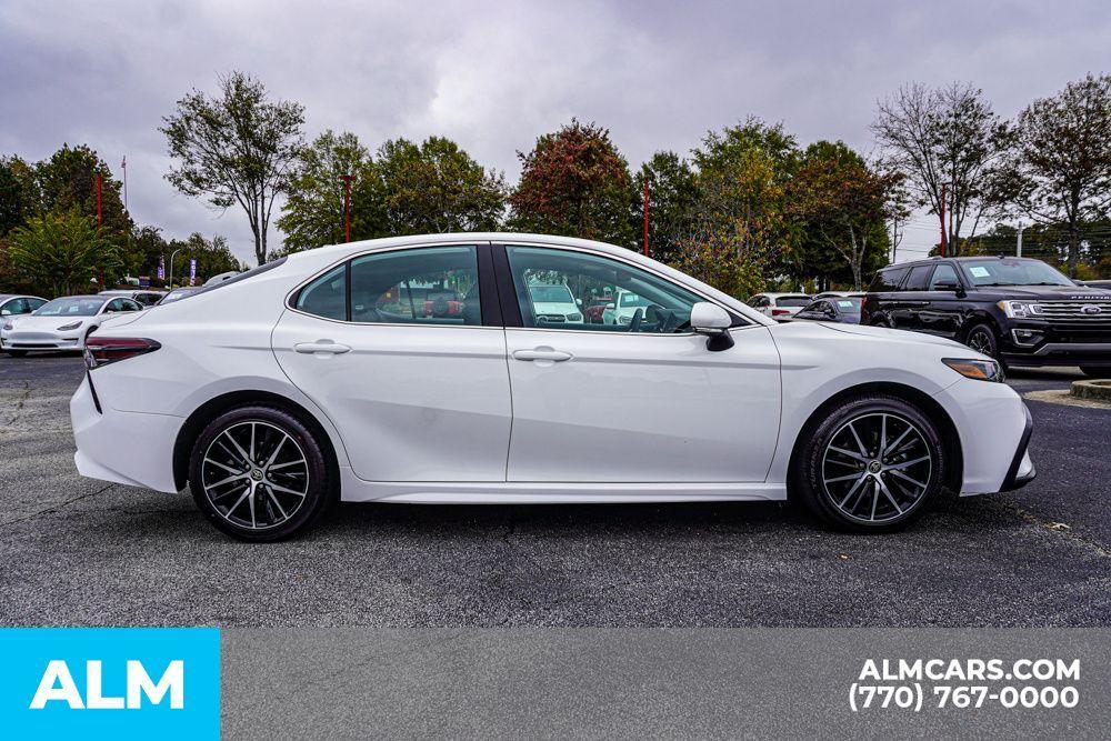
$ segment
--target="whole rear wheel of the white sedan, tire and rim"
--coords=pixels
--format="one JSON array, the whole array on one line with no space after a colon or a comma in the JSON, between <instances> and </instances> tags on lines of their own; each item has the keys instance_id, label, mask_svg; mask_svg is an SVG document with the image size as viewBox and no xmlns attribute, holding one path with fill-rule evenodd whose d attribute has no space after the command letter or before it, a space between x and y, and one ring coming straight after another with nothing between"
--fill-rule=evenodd
<instances>
[{"instance_id":1,"label":"whole rear wheel of the white sedan, tire and rim","mask_svg":"<svg viewBox=\"0 0 1111 741\"><path fill-rule=\"evenodd\" d=\"M240 451L249 459L253 454L250 468ZM302 462L290 462L298 459ZM228 483L213 481L237 472ZM198 509L218 530L243 541L303 533L328 509L334 485L321 442L301 420L276 407L224 412L201 431L189 459L189 488Z\"/></svg>"}]
</instances>

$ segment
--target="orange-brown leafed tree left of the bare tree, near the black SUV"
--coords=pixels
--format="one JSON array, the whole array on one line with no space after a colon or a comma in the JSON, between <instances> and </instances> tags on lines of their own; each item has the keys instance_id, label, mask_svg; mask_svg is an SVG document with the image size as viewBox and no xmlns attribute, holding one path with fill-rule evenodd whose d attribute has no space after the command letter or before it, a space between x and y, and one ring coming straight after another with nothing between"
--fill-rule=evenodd
<instances>
[{"instance_id":1,"label":"orange-brown leafed tree left of the bare tree, near the black SUV","mask_svg":"<svg viewBox=\"0 0 1111 741\"><path fill-rule=\"evenodd\" d=\"M887 254L884 219L899 179L870 168L843 142L820 141L807 148L792 182L793 208L815 241L848 263L853 290L863 286L869 258Z\"/></svg>"}]
</instances>

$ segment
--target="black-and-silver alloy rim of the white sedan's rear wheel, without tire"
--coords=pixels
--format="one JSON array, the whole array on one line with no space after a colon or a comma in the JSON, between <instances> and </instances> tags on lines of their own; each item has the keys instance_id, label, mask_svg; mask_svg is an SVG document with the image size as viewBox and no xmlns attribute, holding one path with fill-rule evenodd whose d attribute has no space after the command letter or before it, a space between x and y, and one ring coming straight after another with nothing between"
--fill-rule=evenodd
<instances>
[{"instance_id":1,"label":"black-and-silver alloy rim of the white sedan's rear wheel, without tire","mask_svg":"<svg viewBox=\"0 0 1111 741\"><path fill-rule=\"evenodd\" d=\"M201 462L213 509L239 528L267 530L292 518L309 493L309 462L281 428L244 421L218 434Z\"/></svg>"}]
</instances>

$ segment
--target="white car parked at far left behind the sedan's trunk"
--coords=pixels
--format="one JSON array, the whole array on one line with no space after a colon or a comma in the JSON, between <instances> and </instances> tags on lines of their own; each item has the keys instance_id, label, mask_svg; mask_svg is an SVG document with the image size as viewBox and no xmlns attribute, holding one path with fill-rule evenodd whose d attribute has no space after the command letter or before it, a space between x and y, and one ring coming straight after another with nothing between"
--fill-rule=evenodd
<instances>
[{"instance_id":1,"label":"white car parked at far left behind the sedan's trunk","mask_svg":"<svg viewBox=\"0 0 1111 741\"><path fill-rule=\"evenodd\" d=\"M86 338L106 319L142 309L119 296L67 296L47 301L30 314L4 317L0 341L14 358L34 350L82 350Z\"/></svg>"}]
</instances>

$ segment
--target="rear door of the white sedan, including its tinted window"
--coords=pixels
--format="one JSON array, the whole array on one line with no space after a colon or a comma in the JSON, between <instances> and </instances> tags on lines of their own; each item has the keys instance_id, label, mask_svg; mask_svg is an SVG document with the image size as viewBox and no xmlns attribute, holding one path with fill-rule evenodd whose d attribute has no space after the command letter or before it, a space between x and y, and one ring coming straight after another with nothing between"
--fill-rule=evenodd
<instances>
[{"instance_id":1,"label":"rear door of the white sedan, including its tinted window","mask_svg":"<svg viewBox=\"0 0 1111 741\"><path fill-rule=\"evenodd\" d=\"M307 283L282 314L278 362L359 478L506 480L509 371L488 263L487 244L371 252Z\"/></svg>"}]
</instances>

